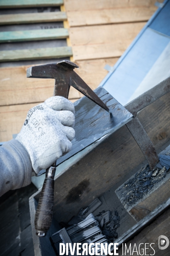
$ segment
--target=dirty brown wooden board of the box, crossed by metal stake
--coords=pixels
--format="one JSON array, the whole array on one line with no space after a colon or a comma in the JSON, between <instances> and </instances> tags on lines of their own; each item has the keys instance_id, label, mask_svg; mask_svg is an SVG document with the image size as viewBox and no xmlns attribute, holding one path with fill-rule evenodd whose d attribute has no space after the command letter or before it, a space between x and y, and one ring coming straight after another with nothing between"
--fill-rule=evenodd
<instances>
[{"instance_id":1,"label":"dirty brown wooden board of the box, crossed by metal stake","mask_svg":"<svg viewBox=\"0 0 170 256\"><path fill-rule=\"evenodd\" d=\"M170 93L140 112L139 120L158 151L170 141L169 96ZM163 129L166 131L164 138L160 136ZM144 166L144 161L142 151L123 126L65 173L57 176L54 189L55 218L59 222L68 221L71 216L77 215L78 209L101 196L106 188L109 190L124 178L127 180L130 171L131 174L136 173Z\"/></svg>"}]
</instances>

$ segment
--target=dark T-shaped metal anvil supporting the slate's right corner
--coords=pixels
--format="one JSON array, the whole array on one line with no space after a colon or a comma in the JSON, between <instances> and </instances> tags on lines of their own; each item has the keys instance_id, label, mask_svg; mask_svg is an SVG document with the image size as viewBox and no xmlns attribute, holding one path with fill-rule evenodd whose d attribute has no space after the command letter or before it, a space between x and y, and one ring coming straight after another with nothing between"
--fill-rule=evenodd
<instances>
[{"instance_id":1,"label":"dark T-shaped metal anvil supporting the slate's right corner","mask_svg":"<svg viewBox=\"0 0 170 256\"><path fill-rule=\"evenodd\" d=\"M136 115L140 110L147 107L168 92L170 92L170 77L125 105L125 108L135 117L131 122L127 123L126 126L146 157L151 170L153 170L159 162L159 157L153 143Z\"/></svg>"}]
</instances>

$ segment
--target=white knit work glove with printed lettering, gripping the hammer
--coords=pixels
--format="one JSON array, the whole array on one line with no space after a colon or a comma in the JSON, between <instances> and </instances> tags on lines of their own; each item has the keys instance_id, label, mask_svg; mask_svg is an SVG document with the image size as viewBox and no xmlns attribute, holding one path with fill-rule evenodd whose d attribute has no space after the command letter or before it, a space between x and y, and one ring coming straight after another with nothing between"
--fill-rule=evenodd
<instances>
[{"instance_id":1,"label":"white knit work glove with printed lettering, gripping the hammer","mask_svg":"<svg viewBox=\"0 0 170 256\"><path fill-rule=\"evenodd\" d=\"M28 111L16 140L26 148L37 174L71 150L74 121L73 103L61 96L51 97Z\"/></svg>"}]
</instances>

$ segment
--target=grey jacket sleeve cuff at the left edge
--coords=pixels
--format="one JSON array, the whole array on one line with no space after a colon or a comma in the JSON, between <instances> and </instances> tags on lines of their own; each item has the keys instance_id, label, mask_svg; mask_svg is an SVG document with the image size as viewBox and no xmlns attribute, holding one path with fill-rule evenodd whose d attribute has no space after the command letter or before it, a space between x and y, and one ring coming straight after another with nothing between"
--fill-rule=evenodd
<instances>
[{"instance_id":1,"label":"grey jacket sleeve cuff at the left edge","mask_svg":"<svg viewBox=\"0 0 170 256\"><path fill-rule=\"evenodd\" d=\"M0 196L31 183L32 165L26 149L17 140L0 147Z\"/></svg>"}]
</instances>

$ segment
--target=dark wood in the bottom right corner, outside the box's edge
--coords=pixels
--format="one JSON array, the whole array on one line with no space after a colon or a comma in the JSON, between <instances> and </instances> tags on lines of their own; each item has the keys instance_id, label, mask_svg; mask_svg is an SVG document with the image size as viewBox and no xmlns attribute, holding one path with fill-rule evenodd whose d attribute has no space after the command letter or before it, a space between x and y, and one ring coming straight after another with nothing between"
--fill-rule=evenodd
<instances>
[{"instance_id":1,"label":"dark wood in the bottom right corner, outside the box's edge","mask_svg":"<svg viewBox=\"0 0 170 256\"><path fill-rule=\"evenodd\" d=\"M126 242L127 248L130 247L131 244L131 253L130 250L125 254L125 244L124 244L124 253L122 253L122 247L117 250L116 252L119 253L119 255L139 255L139 244L140 246L140 253L144 252L144 255L160 255L160 256L169 256L170 254L170 248L167 247L165 250L160 250L158 247L158 238L164 234L164 236L169 237L170 236L170 209L168 209L166 212L164 212L161 216L159 216L155 221L153 221L152 224L148 224L147 227L145 227L137 236L135 236L130 241ZM116 241L115 241L116 242ZM146 249L144 248L144 244L146 243ZM148 243L148 244L147 244ZM150 244L153 243L151 246L154 250L150 247ZM133 248L136 244L138 253L135 252L136 248Z\"/></svg>"}]
</instances>

